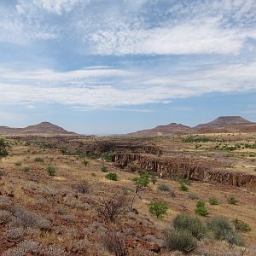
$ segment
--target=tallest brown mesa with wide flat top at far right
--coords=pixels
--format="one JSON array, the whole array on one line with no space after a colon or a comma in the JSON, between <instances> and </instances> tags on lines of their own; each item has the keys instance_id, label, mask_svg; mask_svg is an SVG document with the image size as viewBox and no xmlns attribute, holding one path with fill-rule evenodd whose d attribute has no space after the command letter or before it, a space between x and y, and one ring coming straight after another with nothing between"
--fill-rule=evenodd
<instances>
[{"instance_id":1,"label":"tallest brown mesa with wide flat top at far right","mask_svg":"<svg viewBox=\"0 0 256 256\"><path fill-rule=\"evenodd\" d=\"M253 125L254 123L242 118L241 116L220 116L207 124L201 124L194 127L194 129L208 128L208 127L226 127L230 125Z\"/></svg>"}]
</instances>

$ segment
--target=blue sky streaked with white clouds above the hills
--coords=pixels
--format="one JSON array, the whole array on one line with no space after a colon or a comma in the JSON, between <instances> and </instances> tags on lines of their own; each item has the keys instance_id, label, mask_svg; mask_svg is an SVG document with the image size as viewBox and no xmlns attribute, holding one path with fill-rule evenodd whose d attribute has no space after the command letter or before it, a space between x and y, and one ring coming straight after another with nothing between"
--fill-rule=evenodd
<instances>
[{"instance_id":1,"label":"blue sky streaked with white clouds above the hills","mask_svg":"<svg viewBox=\"0 0 256 256\"><path fill-rule=\"evenodd\" d=\"M0 0L0 125L256 121L255 14L255 0Z\"/></svg>"}]
</instances>

